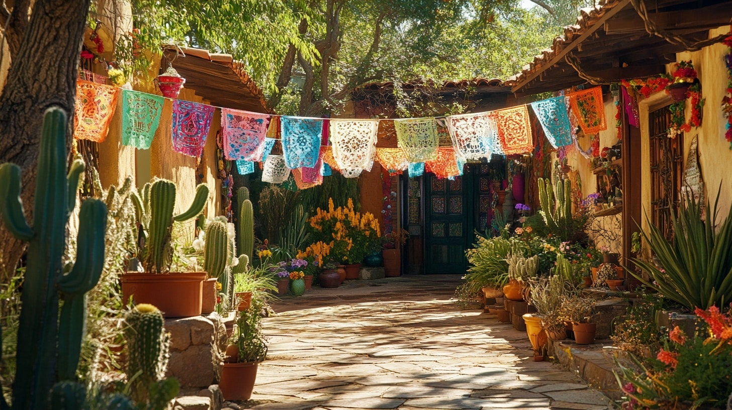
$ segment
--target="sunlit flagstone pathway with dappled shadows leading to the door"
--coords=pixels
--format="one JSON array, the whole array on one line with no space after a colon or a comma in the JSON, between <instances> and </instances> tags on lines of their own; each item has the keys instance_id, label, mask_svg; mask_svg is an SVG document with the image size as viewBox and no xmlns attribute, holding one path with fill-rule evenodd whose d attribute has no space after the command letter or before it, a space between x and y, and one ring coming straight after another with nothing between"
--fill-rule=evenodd
<instances>
[{"instance_id":1,"label":"sunlit flagstone pathway with dappled shadows leading to the door","mask_svg":"<svg viewBox=\"0 0 732 410\"><path fill-rule=\"evenodd\" d=\"M459 275L313 288L273 305L269 354L242 408L611 409L526 332L449 299Z\"/></svg>"}]
</instances>

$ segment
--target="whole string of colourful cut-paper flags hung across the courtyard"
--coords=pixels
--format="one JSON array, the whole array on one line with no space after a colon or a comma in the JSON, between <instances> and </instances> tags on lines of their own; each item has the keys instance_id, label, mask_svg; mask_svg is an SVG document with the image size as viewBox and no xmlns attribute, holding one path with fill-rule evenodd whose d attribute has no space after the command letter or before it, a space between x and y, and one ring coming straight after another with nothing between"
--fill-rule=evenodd
<instances>
[{"instance_id":1,"label":"whole string of colourful cut-paper flags hung across the courtyard","mask_svg":"<svg viewBox=\"0 0 732 410\"><path fill-rule=\"evenodd\" d=\"M118 98L122 98L122 144L149 149L163 115L164 97L89 81L77 82L74 137L104 141ZM586 135L607 129L600 86L528 105L437 118L322 119L221 108L223 155L236 161L239 174L251 174L255 163L262 163L264 182L282 183L292 174L301 188L321 184L332 171L357 177L370 171L375 161L392 175L408 171L409 176L419 176L427 171L452 178L463 174L468 161L531 152L529 107L555 148L575 145L577 127ZM216 108L220 107L173 100L173 150L201 157ZM396 147L376 147L381 121L393 122ZM441 146L442 124L452 146ZM276 141L282 145L281 155L271 154Z\"/></svg>"}]
</instances>

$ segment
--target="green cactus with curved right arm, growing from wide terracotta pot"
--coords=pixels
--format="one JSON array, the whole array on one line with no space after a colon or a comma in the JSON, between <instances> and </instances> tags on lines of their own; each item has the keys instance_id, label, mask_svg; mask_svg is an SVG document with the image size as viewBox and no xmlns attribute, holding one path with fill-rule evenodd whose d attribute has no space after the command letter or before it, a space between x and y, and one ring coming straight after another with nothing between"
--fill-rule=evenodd
<instances>
[{"instance_id":1,"label":"green cactus with curved right arm, growing from wide terracotta pot","mask_svg":"<svg viewBox=\"0 0 732 410\"><path fill-rule=\"evenodd\" d=\"M171 231L173 221L184 222L201 214L209 198L209 187L199 184L195 198L187 211L173 215L176 203L176 184L167 179L156 179L145 184L142 195L131 195L140 223L146 234L140 257L146 272L166 273L173 261Z\"/></svg>"}]
</instances>

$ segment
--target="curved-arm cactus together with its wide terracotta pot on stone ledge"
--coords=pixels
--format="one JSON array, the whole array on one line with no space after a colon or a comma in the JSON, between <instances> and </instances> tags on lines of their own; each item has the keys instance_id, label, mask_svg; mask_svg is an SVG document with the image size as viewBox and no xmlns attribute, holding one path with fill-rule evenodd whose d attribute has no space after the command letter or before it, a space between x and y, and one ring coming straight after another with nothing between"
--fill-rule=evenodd
<instances>
[{"instance_id":1,"label":"curved-arm cactus together with its wide terracotta pot on stone ledge","mask_svg":"<svg viewBox=\"0 0 732 410\"><path fill-rule=\"evenodd\" d=\"M141 226L137 268L142 272L122 275L124 301L132 297L136 303L155 305L169 318L201 315L206 272L171 272L171 231L173 222L185 222L201 214L209 198L208 185L198 185L193 202L178 215L173 215L176 184L166 179L145 184L142 195L133 193L131 198Z\"/></svg>"}]
</instances>

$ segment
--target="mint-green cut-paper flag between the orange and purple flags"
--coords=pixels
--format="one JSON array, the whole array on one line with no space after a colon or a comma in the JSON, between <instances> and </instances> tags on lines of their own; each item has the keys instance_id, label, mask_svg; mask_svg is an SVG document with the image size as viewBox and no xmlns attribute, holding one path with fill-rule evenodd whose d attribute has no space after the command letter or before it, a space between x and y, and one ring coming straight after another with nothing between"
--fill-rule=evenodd
<instances>
[{"instance_id":1,"label":"mint-green cut-paper flag between the orange and purple flags","mask_svg":"<svg viewBox=\"0 0 732 410\"><path fill-rule=\"evenodd\" d=\"M122 145L150 148L164 100L160 95L122 90Z\"/></svg>"}]
</instances>

